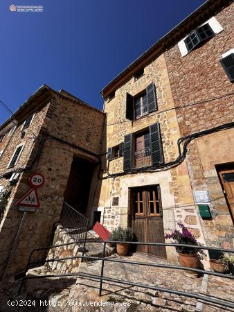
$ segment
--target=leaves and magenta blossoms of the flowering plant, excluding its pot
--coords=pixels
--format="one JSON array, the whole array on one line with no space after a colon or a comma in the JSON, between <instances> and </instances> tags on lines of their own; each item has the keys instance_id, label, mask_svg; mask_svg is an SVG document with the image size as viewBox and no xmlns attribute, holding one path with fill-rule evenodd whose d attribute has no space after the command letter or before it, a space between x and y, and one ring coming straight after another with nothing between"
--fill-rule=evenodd
<instances>
[{"instance_id":1,"label":"leaves and magenta blossoms of the flowering plant, excluding its pot","mask_svg":"<svg viewBox=\"0 0 234 312\"><path fill-rule=\"evenodd\" d=\"M165 239L173 239L172 243L174 244L187 244L187 245L195 245L201 246L200 243L197 242L195 236L183 225L183 223L178 222L177 225L181 228L179 231L178 229L174 229L172 234L166 234ZM204 254L203 250L197 248L189 248L189 247L176 247L177 252L182 254L197 254L197 257L202 259L202 254Z\"/></svg>"}]
</instances>

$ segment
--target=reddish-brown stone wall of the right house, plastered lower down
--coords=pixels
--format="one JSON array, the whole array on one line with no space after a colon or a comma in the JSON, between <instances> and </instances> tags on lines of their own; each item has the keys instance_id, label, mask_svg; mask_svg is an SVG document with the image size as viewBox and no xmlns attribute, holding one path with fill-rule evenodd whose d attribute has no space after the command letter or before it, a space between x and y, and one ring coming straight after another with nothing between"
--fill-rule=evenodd
<instances>
[{"instance_id":1,"label":"reddish-brown stone wall of the right house, plastered lower down","mask_svg":"<svg viewBox=\"0 0 234 312\"><path fill-rule=\"evenodd\" d=\"M183 57L177 44L165 52L182 136L234 121L234 85L219 62L222 54L234 48L234 3L215 17L224 28L221 33ZM234 162L233 134L230 129L195 139L186 156L192 190L207 190L210 194L213 218L200 218L206 243L225 248L233 248L234 230L216 166ZM178 214L183 216L179 209Z\"/></svg>"}]
</instances>

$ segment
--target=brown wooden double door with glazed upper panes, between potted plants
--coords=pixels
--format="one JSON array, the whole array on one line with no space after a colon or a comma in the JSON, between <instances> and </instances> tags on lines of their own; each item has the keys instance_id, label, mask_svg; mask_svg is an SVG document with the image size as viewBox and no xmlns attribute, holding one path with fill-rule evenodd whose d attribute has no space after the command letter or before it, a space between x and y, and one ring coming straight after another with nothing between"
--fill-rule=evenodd
<instances>
[{"instance_id":1,"label":"brown wooden double door with glazed upper panes, between potted plants","mask_svg":"<svg viewBox=\"0 0 234 312\"><path fill-rule=\"evenodd\" d=\"M165 243L159 186L132 189L132 228L139 242ZM138 245L138 252L166 257L164 246Z\"/></svg>"}]
</instances>

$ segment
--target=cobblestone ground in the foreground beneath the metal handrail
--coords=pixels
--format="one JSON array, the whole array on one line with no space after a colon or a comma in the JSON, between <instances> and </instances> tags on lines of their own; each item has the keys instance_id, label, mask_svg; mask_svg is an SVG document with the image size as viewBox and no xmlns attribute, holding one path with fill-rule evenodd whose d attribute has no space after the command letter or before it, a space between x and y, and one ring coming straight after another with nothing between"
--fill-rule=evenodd
<instances>
[{"instance_id":1,"label":"cobblestone ground in the foreground beneath the metal handrail","mask_svg":"<svg viewBox=\"0 0 234 312\"><path fill-rule=\"evenodd\" d=\"M154 257L134 254L132 257L118 257L112 255L113 259L124 259L131 261L144 261L155 263ZM160 261L157 261L158 263ZM161 261L162 262L162 261ZM81 263L80 274L100 274L100 261ZM150 266L138 266L129 263L105 262L104 276L117 278L125 281L134 281L136 283L158 286L162 288L171 288L177 291L188 293L200 293L202 277L191 278L184 275L183 271L171 270L165 268L152 268ZM30 279L27 282L26 292L20 297L17 296L19 281L7 281L0 288L0 311L48 311L48 312L99 312L99 311L196 311L197 300L179 296L163 291L153 291L136 286L103 282L102 297L98 296L99 282L93 278L78 277L57 277L44 279ZM208 280L208 295L220 297L233 302L234 281L222 279L219 277L210 277ZM36 306L9 307L7 302L11 300L35 300ZM50 306L45 306L46 302L51 300ZM98 302L102 306L98 306ZM94 302L94 305L87 305ZM111 303L112 302L112 303ZM113 305L116 302L116 305ZM125 302L125 303L124 303ZM129 302L129 306L125 306ZM82 304L82 306L78 306ZM108 305L107 305L108 304ZM111 306L112 304L112 306ZM203 311L234 311L232 309L221 309L215 306L204 305Z\"/></svg>"}]
</instances>

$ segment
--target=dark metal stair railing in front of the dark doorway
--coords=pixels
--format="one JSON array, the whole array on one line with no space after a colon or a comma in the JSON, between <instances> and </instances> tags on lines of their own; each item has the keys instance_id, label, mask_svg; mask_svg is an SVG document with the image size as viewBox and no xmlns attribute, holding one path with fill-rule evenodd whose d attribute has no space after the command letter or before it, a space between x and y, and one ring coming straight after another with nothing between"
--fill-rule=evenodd
<instances>
[{"instance_id":1,"label":"dark metal stair railing in front of the dark doorway","mask_svg":"<svg viewBox=\"0 0 234 312\"><path fill-rule=\"evenodd\" d=\"M80 214L67 202L63 202L59 223L75 242L86 240L89 219Z\"/></svg>"}]
</instances>

